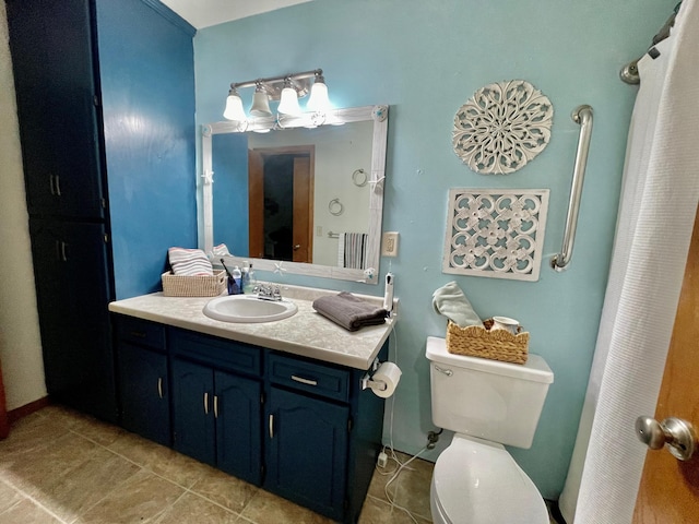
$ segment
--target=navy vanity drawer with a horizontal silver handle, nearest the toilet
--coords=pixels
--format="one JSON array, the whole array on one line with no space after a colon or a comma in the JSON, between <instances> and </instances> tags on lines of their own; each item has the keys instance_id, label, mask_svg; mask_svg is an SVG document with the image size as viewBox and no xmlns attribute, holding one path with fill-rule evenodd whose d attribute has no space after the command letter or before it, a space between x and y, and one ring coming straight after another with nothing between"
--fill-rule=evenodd
<instances>
[{"instance_id":1,"label":"navy vanity drawer with a horizontal silver handle, nearest the toilet","mask_svg":"<svg viewBox=\"0 0 699 524\"><path fill-rule=\"evenodd\" d=\"M341 402L350 398L350 371L346 369L276 353L270 354L269 365L269 377L275 384Z\"/></svg>"}]
</instances>

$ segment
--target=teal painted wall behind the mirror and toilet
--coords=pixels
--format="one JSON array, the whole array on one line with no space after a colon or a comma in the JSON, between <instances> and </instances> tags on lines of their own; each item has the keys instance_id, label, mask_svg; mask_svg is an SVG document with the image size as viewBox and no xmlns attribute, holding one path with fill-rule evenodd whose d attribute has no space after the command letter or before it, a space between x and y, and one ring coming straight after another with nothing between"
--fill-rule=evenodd
<instances>
[{"instance_id":1,"label":"teal painted wall behind the mirror and toilet","mask_svg":"<svg viewBox=\"0 0 699 524\"><path fill-rule=\"evenodd\" d=\"M431 294L454 279L440 270L449 188L548 188L538 282L455 279L482 317L519 319L532 334L530 350L543 355L555 372L533 446L511 451L544 497L558 497L594 350L637 92L619 81L618 71L647 49L675 3L317 0L194 37L198 123L222 120L230 82L315 68L323 69L336 106L391 106L383 229L400 231L401 240L399 257L381 261L381 275L390 261L401 299L394 337L403 369L393 397L396 449L417 452L434 429L424 353L427 336L445 335ZM552 100L550 143L520 171L478 175L452 151L454 114L478 87L512 79L531 82ZM251 96L248 91L244 96ZM570 269L555 273L547 263L561 243L579 135L570 112L581 104L594 108L595 121L578 238ZM382 286L293 275L284 282L382 293ZM448 440L426 456L436 458Z\"/></svg>"}]
</instances>

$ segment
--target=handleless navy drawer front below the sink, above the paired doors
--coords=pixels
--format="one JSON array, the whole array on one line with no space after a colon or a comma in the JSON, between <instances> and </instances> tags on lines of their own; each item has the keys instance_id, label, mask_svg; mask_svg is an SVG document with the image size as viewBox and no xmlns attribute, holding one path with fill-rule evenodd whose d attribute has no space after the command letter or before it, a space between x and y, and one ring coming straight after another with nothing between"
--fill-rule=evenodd
<instances>
[{"instance_id":1,"label":"handleless navy drawer front below the sink, above the paired doors","mask_svg":"<svg viewBox=\"0 0 699 524\"><path fill-rule=\"evenodd\" d=\"M254 377L262 373L261 347L177 327L170 327L168 333L174 355L223 370L240 371Z\"/></svg>"}]
</instances>

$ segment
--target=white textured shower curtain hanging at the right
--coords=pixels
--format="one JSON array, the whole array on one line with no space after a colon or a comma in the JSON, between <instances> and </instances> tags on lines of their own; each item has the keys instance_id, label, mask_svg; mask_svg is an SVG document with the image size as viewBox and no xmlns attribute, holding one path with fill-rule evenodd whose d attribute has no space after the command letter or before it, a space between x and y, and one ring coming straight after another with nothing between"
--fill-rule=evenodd
<instances>
[{"instance_id":1,"label":"white textured shower curtain hanging at the right","mask_svg":"<svg viewBox=\"0 0 699 524\"><path fill-rule=\"evenodd\" d=\"M560 510L568 524L630 523L699 201L699 0L685 0L641 86L594 361Z\"/></svg>"}]
</instances>

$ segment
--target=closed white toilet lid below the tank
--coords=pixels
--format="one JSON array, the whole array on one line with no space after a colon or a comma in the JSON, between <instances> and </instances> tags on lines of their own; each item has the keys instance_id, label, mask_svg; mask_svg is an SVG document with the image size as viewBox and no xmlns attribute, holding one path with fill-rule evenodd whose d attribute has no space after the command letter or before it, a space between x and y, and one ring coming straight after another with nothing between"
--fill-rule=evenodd
<instances>
[{"instance_id":1,"label":"closed white toilet lid below the tank","mask_svg":"<svg viewBox=\"0 0 699 524\"><path fill-rule=\"evenodd\" d=\"M534 483L500 444L455 434L433 474L437 508L452 523L548 524Z\"/></svg>"}]
</instances>

